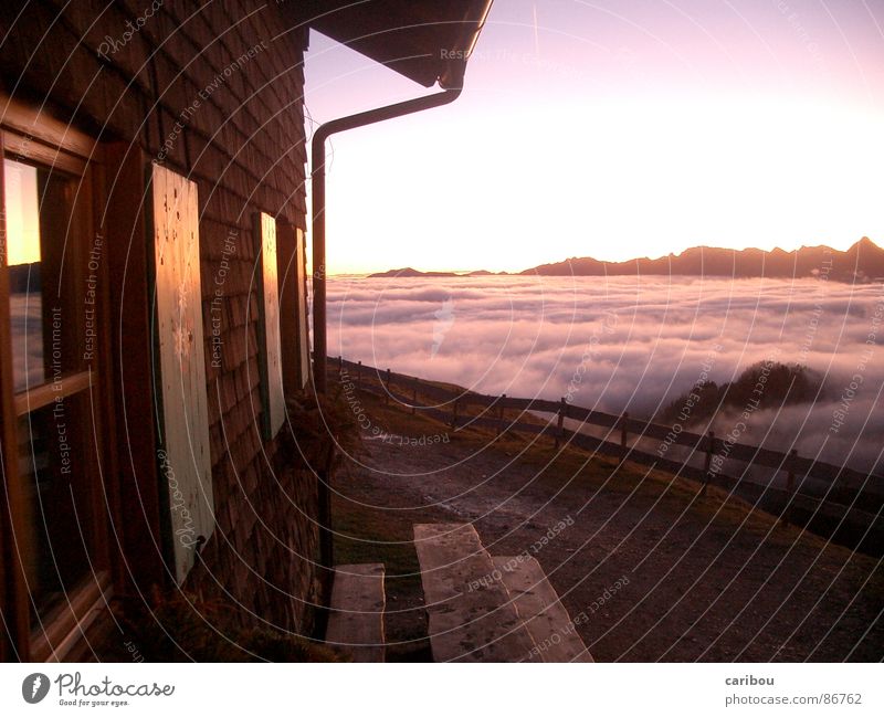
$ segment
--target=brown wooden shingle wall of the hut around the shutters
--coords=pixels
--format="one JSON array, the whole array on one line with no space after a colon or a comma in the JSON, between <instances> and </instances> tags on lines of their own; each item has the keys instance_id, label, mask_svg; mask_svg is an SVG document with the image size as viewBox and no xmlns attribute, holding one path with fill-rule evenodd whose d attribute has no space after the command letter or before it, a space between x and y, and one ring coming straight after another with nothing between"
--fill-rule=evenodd
<instances>
[{"instance_id":1,"label":"brown wooden shingle wall of the hut around the shutters","mask_svg":"<svg viewBox=\"0 0 884 717\"><path fill-rule=\"evenodd\" d=\"M316 479L283 439L261 433L253 215L306 230L307 32L283 27L263 0L33 0L8 34L18 3L1 4L7 94L49 98L57 118L133 143L197 183L217 526L188 580L306 630Z\"/></svg>"}]
</instances>

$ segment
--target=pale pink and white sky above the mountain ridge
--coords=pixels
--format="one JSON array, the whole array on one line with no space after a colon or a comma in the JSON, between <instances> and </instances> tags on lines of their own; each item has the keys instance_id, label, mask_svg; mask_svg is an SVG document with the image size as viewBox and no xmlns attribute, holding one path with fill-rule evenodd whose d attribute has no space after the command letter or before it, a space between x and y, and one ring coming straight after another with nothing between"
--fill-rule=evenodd
<instances>
[{"instance_id":1,"label":"pale pink and white sky above the mountain ridge","mask_svg":"<svg viewBox=\"0 0 884 717\"><path fill-rule=\"evenodd\" d=\"M323 35L312 123L428 91ZM332 139L328 266L884 244L880 0L496 0L446 107Z\"/></svg>"}]
</instances>

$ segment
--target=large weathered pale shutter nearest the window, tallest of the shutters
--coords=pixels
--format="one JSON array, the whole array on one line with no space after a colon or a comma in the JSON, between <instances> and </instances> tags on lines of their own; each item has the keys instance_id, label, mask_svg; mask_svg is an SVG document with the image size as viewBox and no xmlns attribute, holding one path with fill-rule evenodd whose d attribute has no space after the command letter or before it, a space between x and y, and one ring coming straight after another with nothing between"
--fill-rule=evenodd
<instances>
[{"instance_id":1,"label":"large weathered pale shutter nearest the window, tallest of the shutters","mask_svg":"<svg viewBox=\"0 0 884 717\"><path fill-rule=\"evenodd\" d=\"M193 567L198 546L214 529L197 184L154 165L151 192L159 370L154 383L161 401L158 456L180 583Z\"/></svg>"}]
</instances>

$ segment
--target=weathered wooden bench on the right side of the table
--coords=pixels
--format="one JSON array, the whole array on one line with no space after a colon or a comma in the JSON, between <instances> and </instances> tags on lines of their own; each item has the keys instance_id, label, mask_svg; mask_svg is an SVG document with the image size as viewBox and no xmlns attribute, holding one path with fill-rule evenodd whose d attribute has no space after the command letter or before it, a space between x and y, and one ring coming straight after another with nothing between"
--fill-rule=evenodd
<instances>
[{"instance_id":1,"label":"weathered wooden bench on the right side of the table","mask_svg":"<svg viewBox=\"0 0 884 717\"><path fill-rule=\"evenodd\" d=\"M519 619L544 662L593 662L577 626L535 558L492 558L495 578L507 589Z\"/></svg>"}]
</instances>

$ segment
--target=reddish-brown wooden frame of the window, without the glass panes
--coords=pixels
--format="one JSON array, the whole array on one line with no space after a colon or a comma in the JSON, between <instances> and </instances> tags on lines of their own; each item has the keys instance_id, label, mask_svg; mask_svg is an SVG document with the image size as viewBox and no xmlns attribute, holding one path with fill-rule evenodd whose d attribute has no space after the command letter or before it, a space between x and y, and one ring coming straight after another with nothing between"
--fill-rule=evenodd
<instances>
[{"instance_id":1,"label":"reddish-brown wooden frame of the window, without the glass panes","mask_svg":"<svg viewBox=\"0 0 884 717\"><path fill-rule=\"evenodd\" d=\"M15 161L36 165L78 181L78 210L84 212L81 241L73 249L78 257L88 252L87 238L103 235L101 209L96 201L104 192L104 162L96 140L73 127L49 117L38 109L0 93L0 156ZM4 182L0 169L0 183ZM4 184L3 184L4 186ZM82 204L80 203L82 202ZM96 423L94 440L86 440L90 455L94 455L95 473L88 476L87 497L92 515L94 545L91 546L91 565L86 574L71 590L65 600L49 610L39 620L31 619L31 597L28 591L24 560L29 546L29 526L24 513L25 486L18 466L18 452L2 452L2 494L4 499L0 516L0 555L3 558L0 608L7 620L7 635L0 635L0 658L40 662L63 660L77 644L88 625L106 607L114 587L115 566L109 550L110 519L115 505L114 487L106 481L114 475L116 463L113 436L113 407L110 402L109 345L106 331L95 344L94 360L82 370L67 371L60 383L45 380L33 388L15 392L12 372L12 334L10 326L10 287L7 264L6 205L0 198L2 240L0 241L0 440L2 445L18 442L18 420L49 405L56 397L81 396L91 407ZM78 273L78 272L77 272ZM97 272L98 321L108 326L107 319L107 261L99 263ZM102 325L99 323L99 325ZM59 388L60 387L60 388Z\"/></svg>"}]
</instances>

